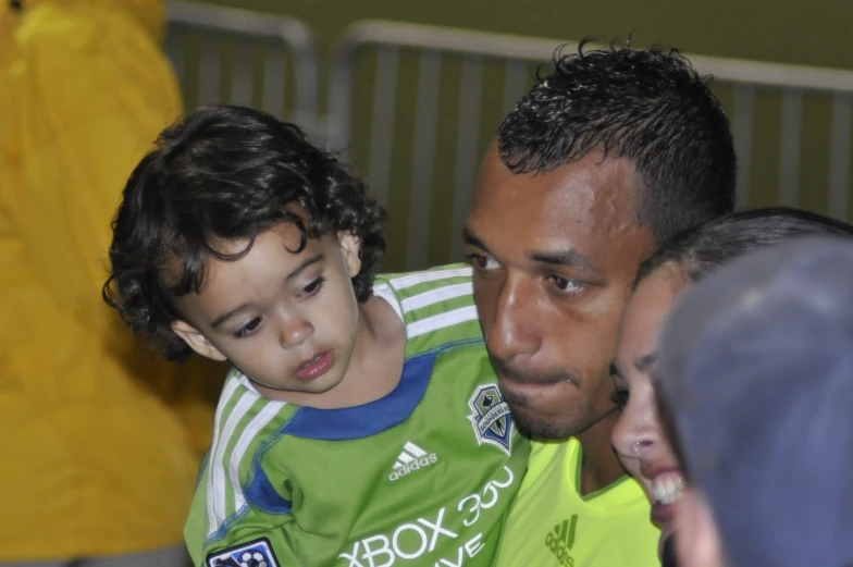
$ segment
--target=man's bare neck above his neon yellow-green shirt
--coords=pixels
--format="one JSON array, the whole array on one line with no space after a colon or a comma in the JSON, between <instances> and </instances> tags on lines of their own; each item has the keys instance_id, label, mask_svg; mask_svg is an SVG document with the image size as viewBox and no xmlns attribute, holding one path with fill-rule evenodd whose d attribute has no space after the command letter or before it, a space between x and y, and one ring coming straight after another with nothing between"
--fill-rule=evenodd
<instances>
[{"instance_id":1,"label":"man's bare neck above his neon yellow-green shirt","mask_svg":"<svg viewBox=\"0 0 853 567\"><path fill-rule=\"evenodd\" d=\"M610 442L619 412L614 411L578 435L583 448L581 463L581 496L605 489L625 474Z\"/></svg>"}]
</instances>

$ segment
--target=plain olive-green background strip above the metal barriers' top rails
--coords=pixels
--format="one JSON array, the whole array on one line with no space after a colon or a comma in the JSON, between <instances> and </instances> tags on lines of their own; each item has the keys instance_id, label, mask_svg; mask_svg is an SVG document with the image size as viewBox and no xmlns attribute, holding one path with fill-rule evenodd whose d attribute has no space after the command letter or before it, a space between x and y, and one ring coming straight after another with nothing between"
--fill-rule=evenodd
<instances>
[{"instance_id":1,"label":"plain olive-green background strip above the metal barriers' top rails","mask_svg":"<svg viewBox=\"0 0 853 567\"><path fill-rule=\"evenodd\" d=\"M853 70L850 0L207 0L287 14L310 25L327 48L349 23L399 20L542 37L601 38L634 32L708 56Z\"/></svg>"}]
</instances>

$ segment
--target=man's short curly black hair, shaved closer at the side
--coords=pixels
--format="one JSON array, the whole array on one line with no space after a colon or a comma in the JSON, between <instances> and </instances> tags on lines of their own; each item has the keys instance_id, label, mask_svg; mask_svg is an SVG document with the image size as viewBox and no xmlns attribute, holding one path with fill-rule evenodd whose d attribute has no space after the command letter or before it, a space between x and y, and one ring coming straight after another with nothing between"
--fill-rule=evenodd
<instances>
[{"instance_id":1,"label":"man's short curly black hair, shaved closer at the side","mask_svg":"<svg viewBox=\"0 0 853 567\"><path fill-rule=\"evenodd\" d=\"M636 220L657 243L734 208L737 160L729 120L677 50L616 41L554 66L498 130L498 151L515 173L542 173L593 150L625 157L638 173Z\"/></svg>"}]
</instances>

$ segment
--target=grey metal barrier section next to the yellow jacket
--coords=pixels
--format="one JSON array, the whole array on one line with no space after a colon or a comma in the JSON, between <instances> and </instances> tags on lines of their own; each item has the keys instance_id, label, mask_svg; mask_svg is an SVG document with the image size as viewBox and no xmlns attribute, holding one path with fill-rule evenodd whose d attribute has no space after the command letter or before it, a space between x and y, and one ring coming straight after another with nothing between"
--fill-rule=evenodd
<instances>
[{"instance_id":1,"label":"grey metal barrier section next to the yellow jacket","mask_svg":"<svg viewBox=\"0 0 853 567\"><path fill-rule=\"evenodd\" d=\"M190 84L196 87L189 108L233 102L318 130L319 64L313 34L305 24L193 2L169 1L166 9L166 52L185 91ZM288 61L294 66L293 102L286 100Z\"/></svg>"}]
</instances>

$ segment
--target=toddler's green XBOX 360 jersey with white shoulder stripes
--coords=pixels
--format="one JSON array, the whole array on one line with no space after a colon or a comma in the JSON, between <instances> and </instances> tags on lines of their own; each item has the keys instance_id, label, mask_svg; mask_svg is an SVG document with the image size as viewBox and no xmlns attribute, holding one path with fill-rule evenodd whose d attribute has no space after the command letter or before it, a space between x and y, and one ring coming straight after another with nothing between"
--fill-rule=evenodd
<instances>
[{"instance_id":1,"label":"toddler's green XBOX 360 jersey with white shoulder stripes","mask_svg":"<svg viewBox=\"0 0 853 567\"><path fill-rule=\"evenodd\" d=\"M386 396L264 398L232 371L185 535L196 566L491 566L528 442L496 385L470 269L378 278L406 325Z\"/></svg>"}]
</instances>

